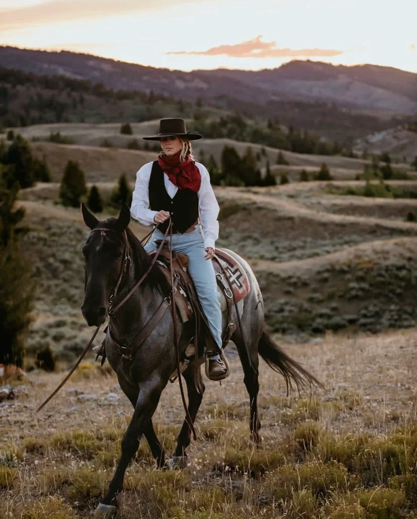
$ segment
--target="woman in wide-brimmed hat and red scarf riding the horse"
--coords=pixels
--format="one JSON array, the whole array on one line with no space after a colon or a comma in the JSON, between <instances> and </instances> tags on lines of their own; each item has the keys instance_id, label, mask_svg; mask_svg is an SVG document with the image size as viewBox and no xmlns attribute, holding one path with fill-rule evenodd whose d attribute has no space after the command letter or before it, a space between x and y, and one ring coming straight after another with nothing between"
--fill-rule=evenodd
<instances>
[{"instance_id":1,"label":"woman in wide-brimmed hat and red scarf riding the horse","mask_svg":"<svg viewBox=\"0 0 417 519\"><path fill-rule=\"evenodd\" d=\"M191 142L201 139L187 132L184 119L161 119L158 135L143 137L160 141L158 159L148 162L136 173L131 214L143 225L158 224L145 249L157 249L172 222L172 251L187 254L188 271L196 287L201 307L218 350L221 350L221 310L211 259L218 238L219 206L207 169L192 156ZM227 367L216 349L206 348L209 378L221 380Z\"/></svg>"}]
</instances>

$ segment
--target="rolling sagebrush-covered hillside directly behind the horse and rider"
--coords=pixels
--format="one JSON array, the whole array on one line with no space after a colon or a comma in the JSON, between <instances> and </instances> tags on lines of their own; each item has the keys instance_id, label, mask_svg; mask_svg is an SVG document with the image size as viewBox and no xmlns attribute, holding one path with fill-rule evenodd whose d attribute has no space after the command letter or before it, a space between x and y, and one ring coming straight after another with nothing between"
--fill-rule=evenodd
<instances>
[{"instance_id":1,"label":"rolling sagebrush-covered hillside directly behind the horse and rider","mask_svg":"<svg viewBox=\"0 0 417 519\"><path fill-rule=\"evenodd\" d=\"M376 332L417 324L417 225L401 219L405 209L416 211L417 200L404 200L401 206L402 200L380 199L371 214L361 215L360 197L349 197L353 203L359 200L353 210L340 202L335 211L343 197L325 194L319 184L215 189L217 245L233 249L253 266L269 329L299 341L325 330ZM112 183L99 187L108 192ZM57 193L56 183L21 193L30 227L25 250L37 281L30 350L45 344L47 327L47 336L57 338L48 344L60 355L65 346L64 356L71 359L88 334L79 311L84 286L80 250L88 229L79 210L52 203ZM146 234L146 228L131 225L138 236Z\"/></svg>"}]
</instances>

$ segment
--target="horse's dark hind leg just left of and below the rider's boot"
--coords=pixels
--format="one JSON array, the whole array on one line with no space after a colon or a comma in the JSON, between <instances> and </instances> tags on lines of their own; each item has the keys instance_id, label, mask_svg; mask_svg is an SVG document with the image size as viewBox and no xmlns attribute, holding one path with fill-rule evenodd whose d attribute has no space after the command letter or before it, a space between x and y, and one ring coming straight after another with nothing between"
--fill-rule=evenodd
<instances>
[{"instance_id":1,"label":"horse's dark hind leg just left of and below the rider's boot","mask_svg":"<svg viewBox=\"0 0 417 519\"><path fill-rule=\"evenodd\" d=\"M194 362L191 362L188 366L187 370L183 373L183 377L185 378L187 384L187 393L188 393L188 414L190 415L192 424L194 424L194 420L196 419L198 409L200 407L201 401L203 400L204 393L204 383L201 380L202 393L200 394L196 389L195 384L195 376L194 376ZM191 429L188 425L187 420L184 420L183 427L181 428L178 438L177 438L177 446L174 452L173 464L176 466L184 466L186 465L186 453L185 449L188 447L191 441Z\"/></svg>"}]
</instances>

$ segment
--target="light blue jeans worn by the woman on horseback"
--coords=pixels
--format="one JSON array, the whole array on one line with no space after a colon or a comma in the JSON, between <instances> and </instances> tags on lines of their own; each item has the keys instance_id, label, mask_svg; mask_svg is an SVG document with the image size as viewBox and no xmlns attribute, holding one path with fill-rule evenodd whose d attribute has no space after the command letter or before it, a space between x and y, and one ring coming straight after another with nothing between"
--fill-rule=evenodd
<instances>
[{"instance_id":1,"label":"light blue jeans worn by the woman on horseback","mask_svg":"<svg viewBox=\"0 0 417 519\"><path fill-rule=\"evenodd\" d=\"M150 252L157 249L155 240L162 240L163 234L155 229L145 250ZM171 238L166 237L169 241ZM196 287L210 330L221 348L221 310L220 295L217 291L216 274L210 260L205 260L204 241L201 226L190 233L172 235L172 250L176 254L187 254L189 257L188 272Z\"/></svg>"}]
</instances>

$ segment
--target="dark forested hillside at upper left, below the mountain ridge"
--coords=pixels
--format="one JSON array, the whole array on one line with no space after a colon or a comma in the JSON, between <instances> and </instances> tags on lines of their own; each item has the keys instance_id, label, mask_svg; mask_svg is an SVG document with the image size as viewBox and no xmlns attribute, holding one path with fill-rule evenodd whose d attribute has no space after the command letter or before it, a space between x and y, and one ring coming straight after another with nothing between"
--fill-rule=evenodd
<instances>
[{"instance_id":1,"label":"dark forested hillside at upper left, below the mountain ridge","mask_svg":"<svg viewBox=\"0 0 417 519\"><path fill-rule=\"evenodd\" d=\"M53 122L143 121L190 117L194 103L154 91L114 90L102 83L0 67L1 127Z\"/></svg>"}]
</instances>

